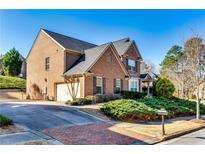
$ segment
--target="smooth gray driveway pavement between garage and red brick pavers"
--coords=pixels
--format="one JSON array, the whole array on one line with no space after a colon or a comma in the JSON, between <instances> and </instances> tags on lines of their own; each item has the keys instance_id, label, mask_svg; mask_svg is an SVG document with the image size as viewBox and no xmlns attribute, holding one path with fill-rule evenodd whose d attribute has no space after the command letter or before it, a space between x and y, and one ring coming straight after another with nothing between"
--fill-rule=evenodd
<instances>
[{"instance_id":1,"label":"smooth gray driveway pavement between garage and red brick pavers","mask_svg":"<svg viewBox=\"0 0 205 154\"><path fill-rule=\"evenodd\" d=\"M4 103L0 104L0 114L32 130L92 124L101 121L72 107L56 105Z\"/></svg>"}]
</instances>

